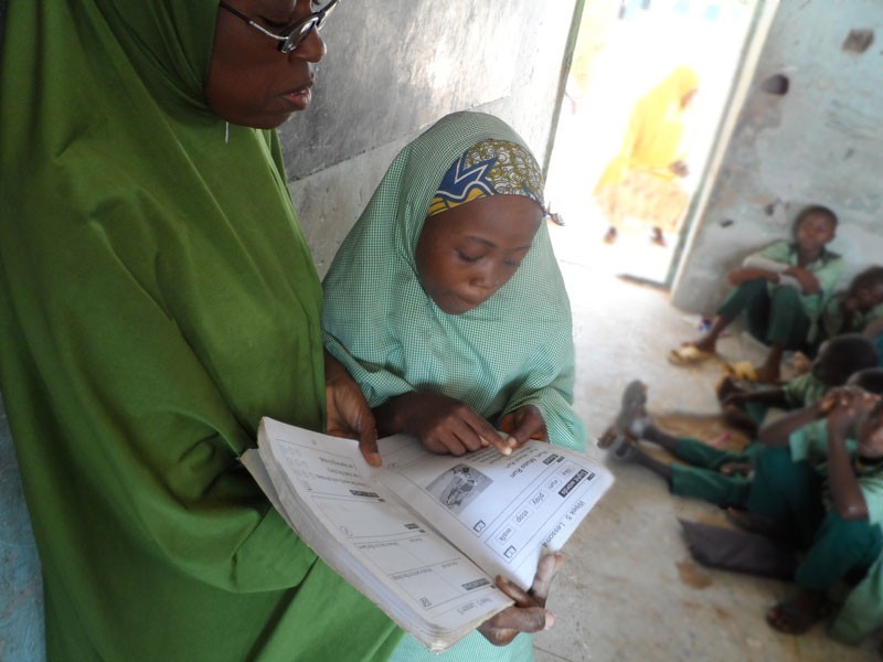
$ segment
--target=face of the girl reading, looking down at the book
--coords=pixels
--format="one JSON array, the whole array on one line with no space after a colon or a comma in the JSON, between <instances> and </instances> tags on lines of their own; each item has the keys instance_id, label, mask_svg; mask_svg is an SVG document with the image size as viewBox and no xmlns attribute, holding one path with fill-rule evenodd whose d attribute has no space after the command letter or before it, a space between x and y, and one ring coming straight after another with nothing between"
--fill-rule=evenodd
<instances>
[{"instance_id":1,"label":"face of the girl reading, looking down at the book","mask_svg":"<svg viewBox=\"0 0 883 662\"><path fill-rule=\"evenodd\" d=\"M414 258L424 291L448 314L481 306L509 282L543 213L523 195L492 195L424 223Z\"/></svg>"}]
</instances>

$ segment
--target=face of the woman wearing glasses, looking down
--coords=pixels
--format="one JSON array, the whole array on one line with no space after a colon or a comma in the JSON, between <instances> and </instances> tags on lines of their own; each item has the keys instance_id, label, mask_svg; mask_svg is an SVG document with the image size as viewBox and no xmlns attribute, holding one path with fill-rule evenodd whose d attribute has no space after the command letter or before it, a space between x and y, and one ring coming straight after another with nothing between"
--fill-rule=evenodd
<instances>
[{"instance_id":1,"label":"face of the woman wearing glasses, looking down","mask_svg":"<svg viewBox=\"0 0 883 662\"><path fill-rule=\"evenodd\" d=\"M310 0L228 0L227 4L274 34L318 9ZM315 29L297 49L280 53L277 41L219 7L205 84L209 107L236 125L276 128L309 105L310 65L323 55L325 42Z\"/></svg>"}]
</instances>

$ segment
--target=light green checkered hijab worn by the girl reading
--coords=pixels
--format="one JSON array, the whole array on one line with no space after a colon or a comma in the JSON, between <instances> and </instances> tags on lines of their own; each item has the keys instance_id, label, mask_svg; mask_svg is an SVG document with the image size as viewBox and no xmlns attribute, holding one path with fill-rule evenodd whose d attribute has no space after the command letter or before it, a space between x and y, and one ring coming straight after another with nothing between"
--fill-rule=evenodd
<instances>
[{"instance_id":1,"label":"light green checkered hijab worn by the girl reading","mask_svg":"<svg viewBox=\"0 0 883 662\"><path fill-rule=\"evenodd\" d=\"M571 308L545 224L512 279L464 314L443 312L417 277L414 247L429 202L451 163L486 139L524 145L494 117L457 113L400 152L325 279L325 343L372 407L427 391L496 424L532 404L552 442L583 449L571 406Z\"/></svg>"}]
</instances>

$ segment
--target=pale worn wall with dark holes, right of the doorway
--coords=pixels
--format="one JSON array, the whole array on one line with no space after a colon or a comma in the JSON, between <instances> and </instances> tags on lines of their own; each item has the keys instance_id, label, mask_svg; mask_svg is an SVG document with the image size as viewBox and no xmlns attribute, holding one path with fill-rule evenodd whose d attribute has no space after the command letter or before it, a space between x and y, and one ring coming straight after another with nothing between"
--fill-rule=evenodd
<instances>
[{"instance_id":1,"label":"pale worn wall with dark holes, right of the doorway","mask_svg":"<svg viewBox=\"0 0 883 662\"><path fill-rule=\"evenodd\" d=\"M854 30L869 32L850 39ZM869 34L876 42L860 52ZM880 2L777 3L674 284L675 306L713 311L727 290L723 275L747 253L787 236L807 203L826 204L840 216L831 247L847 258L848 277L883 264L881 39ZM776 75L788 78L784 95L764 89Z\"/></svg>"}]
</instances>

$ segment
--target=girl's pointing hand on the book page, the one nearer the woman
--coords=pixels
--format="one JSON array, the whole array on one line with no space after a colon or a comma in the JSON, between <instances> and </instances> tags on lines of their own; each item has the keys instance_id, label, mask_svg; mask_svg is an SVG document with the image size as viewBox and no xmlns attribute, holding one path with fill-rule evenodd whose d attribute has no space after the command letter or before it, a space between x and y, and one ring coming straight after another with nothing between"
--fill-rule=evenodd
<instances>
[{"instance_id":1,"label":"girl's pointing hand on the book page, the one nearer the woman","mask_svg":"<svg viewBox=\"0 0 883 662\"><path fill-rule=\"evenodd\" d=\"M383 434L414 435L430 452L461 456L487 446L512 455L508 440L466 403L438 393L405 393L376 408Z\"/></svg>"}]
</instances>

